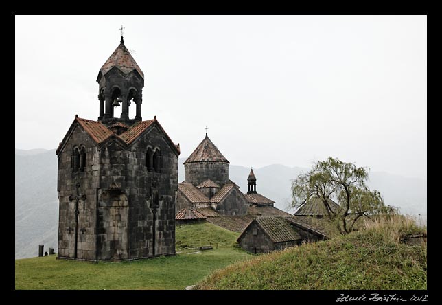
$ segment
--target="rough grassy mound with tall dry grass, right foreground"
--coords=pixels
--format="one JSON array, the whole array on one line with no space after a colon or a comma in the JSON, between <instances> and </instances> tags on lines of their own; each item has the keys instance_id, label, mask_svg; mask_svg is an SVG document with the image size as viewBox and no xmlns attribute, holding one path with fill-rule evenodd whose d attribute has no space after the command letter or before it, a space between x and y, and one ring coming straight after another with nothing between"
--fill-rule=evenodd
<instances>
[{"instance_id":1,"label":"rough grassy mound with tall dry grass, right foreground","mask_svg":"<svg viewBox=\"0 0 442 305\"><path fill-rule=\"evenodd\" d=\"M409 231L409 225L384 223L259 256L214 273L198 289L426 289L426 245L399 243Z\"/></svg>"}]
</instances>

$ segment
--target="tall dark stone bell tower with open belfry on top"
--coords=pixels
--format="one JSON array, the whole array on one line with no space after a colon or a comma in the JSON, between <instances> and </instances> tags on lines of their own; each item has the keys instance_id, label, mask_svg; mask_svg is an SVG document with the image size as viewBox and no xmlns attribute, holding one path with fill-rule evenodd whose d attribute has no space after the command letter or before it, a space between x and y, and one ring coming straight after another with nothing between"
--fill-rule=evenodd
<instances>
[{"instance_id":1,"label":"tall dark stone bell tower with open belfry on top","mask_svg":"<svg viewBox=\"0 0 442 305\"><path fill-rule=\"evenodd\" d=\"M156 117L142 120L144 74L123 37L98 72L97 82L97 121L75 115L56 150L58 258L172 255L179 144ZM114 117L117 106L120 117ZM223 182L220 177L216 185Z\"/></svg>"}]
</instances>

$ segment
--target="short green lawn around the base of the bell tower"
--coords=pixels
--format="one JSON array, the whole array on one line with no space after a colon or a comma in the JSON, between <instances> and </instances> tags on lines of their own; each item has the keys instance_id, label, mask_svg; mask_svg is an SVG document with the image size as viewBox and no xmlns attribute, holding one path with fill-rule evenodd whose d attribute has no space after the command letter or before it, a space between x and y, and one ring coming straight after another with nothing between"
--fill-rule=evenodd
<instances>
[{"instance_id":1,"label":"short green lawn around the base of the bell tower","mask_svg":"<svg viewBox=\"0 0 442 305\"><path fill-rule=\"evenodd\" d=\"M178 254L172 257L121 263L56 260L55 256L16 260L16 289L184 289L217 269L251 258L232 247L238 235L210 223L181 225L176 227ZM191 249L210 243L213 250ZM178 244L188 247L180 249Z\"/></svg>"}]
</instances>

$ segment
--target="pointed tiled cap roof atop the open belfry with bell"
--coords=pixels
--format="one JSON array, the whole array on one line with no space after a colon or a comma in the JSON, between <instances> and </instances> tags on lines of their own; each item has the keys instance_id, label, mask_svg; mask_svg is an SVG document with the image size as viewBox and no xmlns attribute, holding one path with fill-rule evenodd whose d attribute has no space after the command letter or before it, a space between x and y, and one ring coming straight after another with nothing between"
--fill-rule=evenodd
<instances>
[{"instance_id":1,"label":"pointed tiled cap roof atop the open belfry with bell","mask_svg":"<svg viewBox=\"0 0 442 305\"><path fill-rule=\"evenodd\" d=\"M117 67L124 74L129 74L131 71L136 70L141 78L144 79L143 71L141 71L135 59L130 54L129 50L126 48L124 43L120 43L117 49L112 55L106 60L106 63L101 67L100 72L102 75L106 75L110 69ZM97 80L100 79L100 74Z\"/></svg>"}]
</instances>

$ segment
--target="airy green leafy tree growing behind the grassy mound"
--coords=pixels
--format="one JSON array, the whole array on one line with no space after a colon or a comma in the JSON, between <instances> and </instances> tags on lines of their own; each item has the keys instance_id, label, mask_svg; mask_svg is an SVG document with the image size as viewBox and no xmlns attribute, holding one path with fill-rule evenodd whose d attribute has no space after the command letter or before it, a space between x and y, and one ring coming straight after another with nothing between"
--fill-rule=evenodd
<instances>
[{"instance_id":1,"label":"airy green leafy tree growing behind the grassy mound","mask_svg":"<svg viewBox=\"0 0 442 305\"><path fill-rule=\"evenodd\" d=\"M300 174L293 181L292 206L301 207L313 197L318 197L341 233L349 233L360 217L392 211L384 204L380 192L369 190L366 185L368 179L368 169L329 157L316 162L310 172ZM332 210L329 199L337 199L340 210Z\"/></svg>"}]
</instances>

